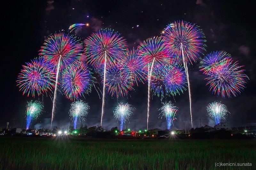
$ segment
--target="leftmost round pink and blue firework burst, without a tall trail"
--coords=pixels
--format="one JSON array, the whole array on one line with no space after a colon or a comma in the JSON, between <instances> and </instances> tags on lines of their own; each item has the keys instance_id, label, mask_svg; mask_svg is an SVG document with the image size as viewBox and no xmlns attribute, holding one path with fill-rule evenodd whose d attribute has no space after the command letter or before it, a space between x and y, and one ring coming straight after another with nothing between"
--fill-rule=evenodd
<instances>
[{"instance_id":1,"label":"leftmost round pink and blue firework burst, without a tall trail","mask_svg":"<svg viewBox=\"0 0 256 170\"><path fill-rule=\"evenodd\" d=\"M52 91L55 73L51 64L42 58L35 58L22 67L18 75L17 86L23 95L27 93L28 96L35 97L35 93L39 96L43 92Z\"/></svg>"}]
</instances>

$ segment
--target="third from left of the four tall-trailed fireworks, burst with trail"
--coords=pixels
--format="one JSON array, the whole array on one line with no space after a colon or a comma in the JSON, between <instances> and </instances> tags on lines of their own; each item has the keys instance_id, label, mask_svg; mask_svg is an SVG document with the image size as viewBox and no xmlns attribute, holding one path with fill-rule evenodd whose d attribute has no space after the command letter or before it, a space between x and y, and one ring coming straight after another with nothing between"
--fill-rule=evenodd
<instances>
[{"instance_id":1,"label":"third from left of the four tall-trailed fireworks, burst with trail","mask_svg":"<svg viewBox=\"0 0 256 170\"><path fill-rule=\"evenodd\" d=\"M150 107L150 82L152 71L156 65L165 65L171 62L171 56L167 46L162 37L148 38L146 41L140 43L139 56L142 58L144 69L148 69L148 116L147 116L147 129L148 117Z\"/></svg>"}]
</instances>

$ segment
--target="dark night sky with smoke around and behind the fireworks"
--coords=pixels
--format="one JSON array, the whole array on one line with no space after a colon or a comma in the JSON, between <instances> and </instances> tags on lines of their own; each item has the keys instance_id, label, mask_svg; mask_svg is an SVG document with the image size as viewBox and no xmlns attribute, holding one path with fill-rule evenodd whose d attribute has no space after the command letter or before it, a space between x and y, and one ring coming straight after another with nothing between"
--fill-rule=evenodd
<instances>
[{"instance_id":1,"label":"dark night sky with smoke around and behind the fireworks","mask_svg":"<svg viewBox=\"0 0 256 170\"><path fill-rule=\"evenodd\" d=\"M11 127L21 127L26 104L32 97L22 96L16 86L21 66L38 56L44 39L51 33L67 30L74 23L90 23L90 27L80 27L76 34L85 39L101 28L112 28L120 32L128 41L129 47L136 47L141 41L160 35L164 27L175 20L186 20L201 26L206 36L207 52L223 50L232 55L235 61L244 65L250 78L244 92L232 99L222 99L212 95L205 86L205 76L199 72L199 64L189 68L192 92L192 113L195 127L214 125L206 115L206 106L213 101L222 101L231 115L227 120L232 126L255 124L255 3L253 1L6 1L2 5L1 28L1 69L2 104L0 127L10 122ZM74 9L73 9L74 8ZM87 16L89 16L87 18ZM136 27L139 25L139 27ZM132 28L134 27L134 28ZM202 56L203 57L203 56ZM101 87L102 89L102 87ZM35 100L38 97L34 98ZM42 101L42 96L39 97ZM88 126L97 125L101 115L101 100L95 90L84 101L91 109L86 119ZM190 128L188 91L172 100L179 107L174 128ZM128 125L134 129L147 127L147 83L135 87L128 98L119 98L132 104L136 110ZM52 100L43 97L44 112L33 121L35 128L50 127ZM67 127L68 110L71 101L58 95L57 111L53 125ZM118 126L113 117L117 99L107 95L103 127ZM154 96L151 100L149 128L165 128L165 119L160 119L158 109L161 101ZM85 123L83 122L83 124Z\"/></svg>"}]
</instances>

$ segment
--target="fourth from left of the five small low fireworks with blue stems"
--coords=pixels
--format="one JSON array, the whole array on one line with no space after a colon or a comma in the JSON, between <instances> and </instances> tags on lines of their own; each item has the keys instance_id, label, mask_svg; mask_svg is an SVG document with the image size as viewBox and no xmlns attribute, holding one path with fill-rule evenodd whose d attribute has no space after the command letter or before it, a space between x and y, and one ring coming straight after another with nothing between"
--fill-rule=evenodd
<instances>
[{"instance_id":1,"label":"fourth from left of the five small low fireworks with blue stems","mask_svg":"<svg viewBox=\"0 0 256 170\"><path fill-rule=\"evenodd\" d=\"M163 106L159 109L161 111L160 115L166 118L167 129L170 130L173 120L176 119L175 115L178 111L178 107L174 106L171 101L162 104Z\"/></svg>"}]
</instances>

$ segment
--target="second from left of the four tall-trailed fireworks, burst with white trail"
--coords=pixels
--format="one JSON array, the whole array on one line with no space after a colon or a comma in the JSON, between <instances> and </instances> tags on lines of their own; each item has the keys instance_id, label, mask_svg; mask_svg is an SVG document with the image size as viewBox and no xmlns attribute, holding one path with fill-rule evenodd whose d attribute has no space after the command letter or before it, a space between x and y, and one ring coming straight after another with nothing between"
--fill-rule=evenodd
<instances>
[{"instance_id":1,"label":"second from left of the four tall-trailed fireworks, burst with white trail","mask_svg":"<svg viewBox=\"0 0 256 170\"><path fill-rule=\"evenodd\" d=\"M100 126L102 126L102 118L105 107L105 91L106 91L106 68L113 68L126 48L126 41L118 32L111 29L102 29L86 40L85 53L88 56L88 63L94 70L103 73L103 96Z\"/></svg>"}]
</instances>

